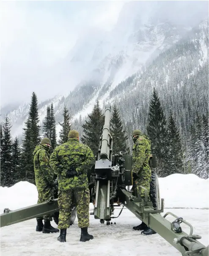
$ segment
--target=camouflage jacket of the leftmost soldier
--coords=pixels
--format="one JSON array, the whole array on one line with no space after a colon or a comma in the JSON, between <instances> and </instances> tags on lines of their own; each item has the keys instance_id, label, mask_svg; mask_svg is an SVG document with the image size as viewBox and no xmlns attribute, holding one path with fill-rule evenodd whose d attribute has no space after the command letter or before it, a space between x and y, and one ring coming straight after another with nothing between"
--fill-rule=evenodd
<instances>
[{"instance_id":1,"label":"camouflage jacket of the leftmost soldier","mask_svg":"<svg viewBox=\"0 0 209 256\"><path fill-rule=\"evenodd\" d=\"M33 155L36 187L38 191L44 191L54 182L54 173L49 165L49 149L45 145L37 145Z\"/></svg>"}]
</instances>

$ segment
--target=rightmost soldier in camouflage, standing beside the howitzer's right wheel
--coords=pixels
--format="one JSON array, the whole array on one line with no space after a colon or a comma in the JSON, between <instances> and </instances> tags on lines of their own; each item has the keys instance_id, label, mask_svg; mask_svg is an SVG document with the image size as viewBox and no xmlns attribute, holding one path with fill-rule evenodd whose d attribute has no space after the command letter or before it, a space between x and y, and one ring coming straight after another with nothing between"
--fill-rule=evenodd
<instances>
[{"instance_id":1,"label":"rightmost soldier in camouflage, standing beside the howitzer's right wheel","mask_svg":"<svg viewBox=\"0 0 209 256\"><path fill-rule=\"evenodd\" d=\"M150 200L149 190L151 182L151 168L149 166L149 158L151 155L151 142L140 130L133 131L132 138L134 141L132 173L136 178L135 191L137 194L141 191L141 197L144 198L144 189L139 187L144 186L148 190L148 200ZM153 229L149 228L143 222L140 225L133 227L133 229L143 230L141 232L143 235L156 234Z\"/></svg>"}]
</instances>

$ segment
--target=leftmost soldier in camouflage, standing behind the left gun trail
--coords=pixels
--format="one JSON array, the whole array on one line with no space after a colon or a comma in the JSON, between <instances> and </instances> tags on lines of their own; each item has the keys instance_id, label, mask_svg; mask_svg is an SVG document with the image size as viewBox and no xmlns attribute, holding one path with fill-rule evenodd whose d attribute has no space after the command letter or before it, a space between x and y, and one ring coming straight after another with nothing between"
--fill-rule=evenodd
<instances>
[{"instance_id":1,"label":"leftmost soldier in camouflage, standing behind the left gun trail","mask_svg":"<svg viewBox=\"0 0 209 256\"><path fill-rule=\"evenodd\" d=\"M54 182L54 174L49 165L50 159L50 148L51 141L48 138L44 138L41 140L40 144L36 146L33 155L33 164L35 171L35 180L36 187L38 190L38 202L43 203L45 201L50 200L51 197L54 197L53 186ZM44 218L44 225L43 220ZM38 217L36 231L42 231L43 233L56 233L59 232L57 228L53 228L50 224L52 221L52 215L47 215L44 217Z\"/></svg>"}]
</instances>

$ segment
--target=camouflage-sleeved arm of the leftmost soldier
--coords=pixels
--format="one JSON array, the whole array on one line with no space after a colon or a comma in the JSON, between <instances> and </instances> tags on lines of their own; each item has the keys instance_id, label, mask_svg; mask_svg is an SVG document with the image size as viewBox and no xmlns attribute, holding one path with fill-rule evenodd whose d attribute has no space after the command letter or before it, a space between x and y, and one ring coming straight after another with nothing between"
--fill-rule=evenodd
<instances>
[{"instance_id":1,"label":"camouflage-sleeved arm of the leftmost soldier","mask_svg":"<svg viewBox=\"0 0 209 256\"><path fill-rule=\"evenodd\" d=\"M52 168L49 165L49 159L45 153L45 150L40 150L38 158L39 158L41 171L43 172L44 177L47 179L47 181L50 184L52 184L54 182L54 173Z\"/></svg>"}]
</instances>

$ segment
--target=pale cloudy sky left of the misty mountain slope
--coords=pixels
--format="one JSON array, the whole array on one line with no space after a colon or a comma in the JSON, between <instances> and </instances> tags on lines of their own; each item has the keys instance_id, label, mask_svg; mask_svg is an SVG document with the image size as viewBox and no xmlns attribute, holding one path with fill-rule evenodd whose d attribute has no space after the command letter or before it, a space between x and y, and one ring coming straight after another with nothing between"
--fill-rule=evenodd
<instances>
[{"instance_id":1,"label":"pale cloudy sky left of the misty mountain slope","mask_svg":"<svg viewBox=\"0 0 209 256\"><path fill-rule=\"evenodd\" d=\"M33 78L37 79L41 70L50 71L87 29L111 30L124 3L1 2L1 106L12 101L30 101L33 91L37 91L38 99L46 99L38 84L33 84ZM55 88L50 90L54 90L50 97L57 93Z\"/></svg>"}]
</instances>

